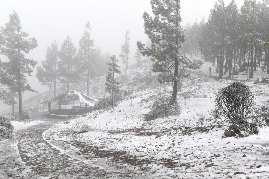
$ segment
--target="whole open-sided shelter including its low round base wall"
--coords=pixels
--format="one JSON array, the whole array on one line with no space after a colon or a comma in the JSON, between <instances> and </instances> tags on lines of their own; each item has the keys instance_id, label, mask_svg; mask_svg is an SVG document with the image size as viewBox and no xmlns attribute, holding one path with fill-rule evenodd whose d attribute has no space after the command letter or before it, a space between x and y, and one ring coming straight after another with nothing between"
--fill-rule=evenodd
<instances>
[{"instance_id":1,"label":"whole open-sided shelter including its low round base wall","mask_svg":"<svg viewBox=\"0 0 269 179\"><path fill-rule=\"evenodd\" d=\"M83 115L93 111L94 104L97 101L97 99L91 98L82 92L67 91L40 104L48 104L47 114L49 115L70 116ZM52 107L54 109L51 109Z\"/></svg>"}]
</instances>

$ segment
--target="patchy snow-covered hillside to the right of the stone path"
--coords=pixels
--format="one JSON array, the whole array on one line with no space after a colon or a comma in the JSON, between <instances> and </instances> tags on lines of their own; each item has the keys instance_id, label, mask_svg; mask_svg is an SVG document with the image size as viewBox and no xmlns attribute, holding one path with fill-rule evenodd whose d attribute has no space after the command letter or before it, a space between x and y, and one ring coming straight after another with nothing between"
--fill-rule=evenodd
<instances>
[{"instance_id":1,"label":"patchy snow-covered hillside to the right of the stone path","mask_svg":"<svg viewBox=\"0 0 269 179\"><path fill-rule=\"evenodd\" d=\"M172 91L171 85L158 84L158 74L152 74L149 66L117 76L121 89L133 93L116 107L88 113L69 124L56 124L45 131L45 140L83 161L104 168L114 166L114 170L117 166L119 172L129 170L145 178L268 178L268 127L247 138L222 138L229 124L213 122L211 126L208 113L218 88L232 81L192 74L178 92L181 114L145 121L154 101L170 97ZM268 107L269 85L247 85L257 105ZM206 116L202 126L197 125L199 113ZM85 124L92 130L79 133ZM158 134L163 136L155 139ZM256 168L259 165L262 167Z\"/></svg>"}]
</instances>

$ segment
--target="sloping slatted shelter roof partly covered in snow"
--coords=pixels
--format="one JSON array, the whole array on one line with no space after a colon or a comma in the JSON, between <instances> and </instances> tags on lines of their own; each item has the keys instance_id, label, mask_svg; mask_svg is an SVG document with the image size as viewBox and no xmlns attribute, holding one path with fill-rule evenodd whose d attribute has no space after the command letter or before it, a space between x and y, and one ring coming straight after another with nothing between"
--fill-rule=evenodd
<instances>
[{"instance_id":1,"label":"sloping slatted shelter roof partly covered in snow","mask_svg":"<svg viewBox=\"0 0 269 179\"><path fill-rule=\"evenodd\" d=\"M94 106L95 102L98 101L97 99L91 98L83 94L82 92L78 91L67 91L58 95L56 98L51 100L42 102L41 104L62 104L62 105L85 105Z\"/></svg>"}]
</instances>

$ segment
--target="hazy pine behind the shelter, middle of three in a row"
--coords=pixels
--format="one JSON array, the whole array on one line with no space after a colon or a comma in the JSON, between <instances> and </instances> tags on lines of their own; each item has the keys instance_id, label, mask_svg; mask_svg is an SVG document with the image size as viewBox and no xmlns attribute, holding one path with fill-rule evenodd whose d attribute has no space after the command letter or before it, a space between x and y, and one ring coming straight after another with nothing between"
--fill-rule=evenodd
<instances>
[{"instance_id":1,"label":"hazy pine behind the shelter, middle of three in a row","mask_svg":"<svg viewBox=\"0 0 269 179\"><path fill-rule=\"evenodd\" d=\"M79 60L75 57L76 48L71 42L69 36L66 37L62 43L62 47L59 51L59 75L60 81L67 84L67 91L69 91L69 84L75 83L80 79L79 73Z\"/></svg>"}]
</instances>

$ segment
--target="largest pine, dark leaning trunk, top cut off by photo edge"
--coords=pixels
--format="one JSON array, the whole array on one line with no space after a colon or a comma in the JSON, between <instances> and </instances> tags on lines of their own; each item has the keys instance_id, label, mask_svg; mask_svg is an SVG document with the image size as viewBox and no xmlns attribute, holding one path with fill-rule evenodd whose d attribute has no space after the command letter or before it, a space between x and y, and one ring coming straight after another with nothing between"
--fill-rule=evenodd
<instances>
[{"instance_id":1,"label":"largest pine, dark leaning trunk, top cut off by photo edge","mask_svg":"<svg viewBox=\"0 0 269 179\"><path fill-rule=\"evenodd\" d=\"M137 42L143 56L151 56L153 71L164 72L159 81L173 82L171 104L176 103L178 82L187 75L185 68L198 68L187 58L181 56L179 49L185 35L181 28L180 0L151 0L152 12L143 14L145 33L152 41L151 47ZM172 71L174 71L172 74Z\"/></svg>"}]
</instances>

